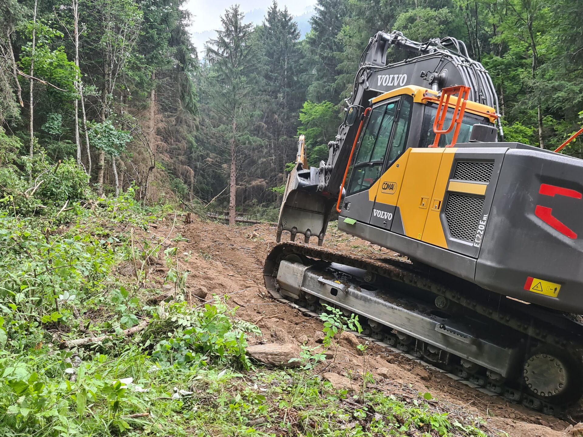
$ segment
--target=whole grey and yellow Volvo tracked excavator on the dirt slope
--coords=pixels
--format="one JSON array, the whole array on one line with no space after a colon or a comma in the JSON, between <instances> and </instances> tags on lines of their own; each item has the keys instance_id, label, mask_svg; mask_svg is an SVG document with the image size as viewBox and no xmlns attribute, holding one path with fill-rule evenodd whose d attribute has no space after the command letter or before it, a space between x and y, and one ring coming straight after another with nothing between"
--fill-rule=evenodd
<instances>
[{"instance_id":1,"label":"whole grey and yellow Volvo tracked excavator on the dirt slope","mask_svg":"<svg viewBox=\"0 0 583 437\"><path fill-rule=\"evenodd\" d=\"M387 64L389 48L410 57ZM300 138L268 290L312 315L357 314L369 338L483 390L545 413L573 408L583 161L504 142L490 75L451 37L377 33L346 105L318 167ZM322 247L336 213L339 230L401 256Z\"/></svg>"}]
</instances>

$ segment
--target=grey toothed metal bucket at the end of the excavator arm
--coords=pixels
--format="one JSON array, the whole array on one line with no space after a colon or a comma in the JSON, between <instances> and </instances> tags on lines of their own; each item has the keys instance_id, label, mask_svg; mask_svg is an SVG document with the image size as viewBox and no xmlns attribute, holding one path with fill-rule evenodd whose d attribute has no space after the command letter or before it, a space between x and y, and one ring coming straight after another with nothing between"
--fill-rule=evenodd
<instances>
[{"instance_id":1,"label":"grey toothed metal bucket at the end of the excavator arm","mask_svg":"<svg viewBox=\"0 0 583 437\"><path fill-rule=\"evenodd\" d=\"M289 231L290 241L295 241L297 234L303 234L305 242L310 242L310 237L317 235L318 245L324 243L333 200L317 192L318 181L318 168L308 167L305 138L301 135L298 140L296 165L287 176L279 210L276 234L278 242L282 238L282 232Z\"/></svg>"}]
</instances>

